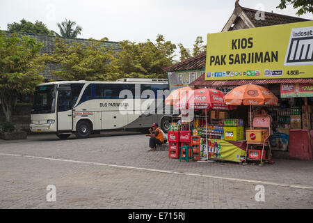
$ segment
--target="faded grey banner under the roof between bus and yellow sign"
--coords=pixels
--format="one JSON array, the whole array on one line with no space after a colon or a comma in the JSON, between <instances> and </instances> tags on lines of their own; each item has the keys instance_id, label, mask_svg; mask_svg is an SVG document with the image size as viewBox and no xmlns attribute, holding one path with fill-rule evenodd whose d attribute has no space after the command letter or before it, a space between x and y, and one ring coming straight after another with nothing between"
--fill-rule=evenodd
<instances>
[{"instance_id":1,"label":"faded grey banner under the roof between bus and yellow sign","mask_svg":"<svg viewBox=\"0 0 313 223\"><path fill-rule=\"evenodd\" d=\"M168 72L168 84L170 86L170 91L187 86L202 74L204 74L204 68L202 70Z\"/></svg>"}]
</instances>

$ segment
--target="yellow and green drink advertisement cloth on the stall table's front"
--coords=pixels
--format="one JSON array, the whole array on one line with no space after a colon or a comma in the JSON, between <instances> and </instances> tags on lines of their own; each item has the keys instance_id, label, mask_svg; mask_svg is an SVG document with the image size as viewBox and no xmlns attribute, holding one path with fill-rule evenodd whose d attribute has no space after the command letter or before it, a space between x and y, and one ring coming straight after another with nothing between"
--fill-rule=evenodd
<instances>
[{"instance_id":1,"label":"yellow and green drink advertisement cloth on the stall table's front","mask_svg":"<svg viewBox=\"0 0 313 223\"><path fill-rule=\"evenodd\" d=\"M208 139L207 145L204 143L201 155L209 159L228 160L233 162L243 162L246 157L246 143L243 141L225 141L220 139ZM208 148L208 149L207 149Z\"/></svg>"}]
</instances>

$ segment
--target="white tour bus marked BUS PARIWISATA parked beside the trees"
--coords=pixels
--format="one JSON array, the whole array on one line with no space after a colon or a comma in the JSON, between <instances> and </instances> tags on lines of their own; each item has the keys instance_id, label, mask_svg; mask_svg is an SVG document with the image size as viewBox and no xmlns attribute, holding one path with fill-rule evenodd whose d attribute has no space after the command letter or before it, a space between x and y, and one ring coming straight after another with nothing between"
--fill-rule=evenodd
<instances>
[{"instance_id":1,"label":"white tour bus marked BUS PARIWISATA parked beside the trees","mask_svg":"<svg viewBox=\"0 0 313 223\"><path fill-rule=\"evenodd\" d=\"M120 98L120 92L125 89L129 90L127 92L131 92L131 95ZM39 84L33 98L30 129L32 132L56 132L60 139L67 139L73 132L79 138L86 138L89 134L99 133L101 130L146 131L152 123L158 123L162 130L167 132L170 112L165 114L164 109L157 112L157 101L163 104L166 98L166 95L161 95L161 100L157 100L160 98L157 96L158 90L168 95L167 79ZM149 92L155 93L155 97L149 95ZM143 109L142 105L147 109ZM121 107L125 112L120 112Z\"/></svg>"}]
</instances>

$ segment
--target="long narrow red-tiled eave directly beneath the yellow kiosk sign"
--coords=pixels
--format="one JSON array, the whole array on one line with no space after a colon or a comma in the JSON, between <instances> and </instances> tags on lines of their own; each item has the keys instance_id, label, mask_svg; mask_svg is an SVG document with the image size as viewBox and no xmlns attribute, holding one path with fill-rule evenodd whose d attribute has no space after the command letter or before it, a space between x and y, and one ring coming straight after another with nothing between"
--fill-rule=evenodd
<instances>
[{"instance_id":1,"label":"long narrow red-tiled eave directly beneath the yellow kiosk sign","mask_svg":"<svg viewBox=\"0 0 313 223\"><path fill-rule=\"evenodd\" d=\"M313 84L313 78L300 79L236 79L236 80L216 80L206 81L205 74L191 82L189 86L204 87L204 86L240 86L244 84Z\"/></svg>"}]
</instances>

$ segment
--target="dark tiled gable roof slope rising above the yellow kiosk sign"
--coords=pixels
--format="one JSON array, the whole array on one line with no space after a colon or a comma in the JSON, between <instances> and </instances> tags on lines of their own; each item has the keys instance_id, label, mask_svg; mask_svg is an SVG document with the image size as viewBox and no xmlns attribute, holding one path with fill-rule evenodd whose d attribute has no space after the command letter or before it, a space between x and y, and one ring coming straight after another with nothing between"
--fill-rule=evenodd
<instances>
[{"instance_id":1,"label":"dark tiled gable roof slope rising above the yellow kiosk sign","mask_svg":"<svg viewBox=\"0 0 313 223\"><path fill-rule=\"evenodd\" d=\"M241 7L241 9L243 10L244 13L246 13L249 20L255 25L255 27L273 26L273 25L279 25L279 24L310 21L310 20L306 20L300 17L291 17L289 15L280 15L280 14L268 13L268 12L264 12L265 20L256 20L255 14L257 13L257 10L251 9L251 8L243 8L243 7Z\"/></svg>"}]
</instances>

